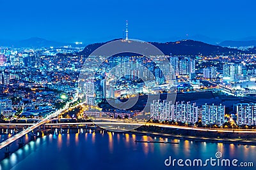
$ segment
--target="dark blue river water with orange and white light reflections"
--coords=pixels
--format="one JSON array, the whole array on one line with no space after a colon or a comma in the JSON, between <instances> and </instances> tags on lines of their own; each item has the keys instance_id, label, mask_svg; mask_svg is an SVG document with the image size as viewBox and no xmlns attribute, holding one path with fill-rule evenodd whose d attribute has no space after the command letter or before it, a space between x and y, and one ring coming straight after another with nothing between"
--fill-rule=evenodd
<instances>
[{"instance_id":1,"label":"dark blue river water with orange and white light reflections","mask_svg":"<svg viewBox=\"0 0 256 170\"><path fill-rule=\"evenodd\" d=\"M28 140L29 137L24 136L24 139ZM170 141L179 142L179 144L135 143L134 141L136 140ZM65 145L65 143L67 145ZM76 149L77 147L79 147L79 150ZM136 134L122 134L106 131L81 131L81 133L69 132L67 134L50 134L43 138L37 138L35 141L31 141L28 145L17 150L17 152L13 153L9 158L3 159L0 162L0 169L11 169L13 166L15 166L14 169L29 169L28 167L30 166L32 169L32 167L34 168L40 164L40 162L47 162L49 160L55 160L56 158L66 161L65 166L67 167L64 169L69 169L69 167L70 169L81 169L79 165L84 162L77 162L77 160L81 160L81 158L87 162L86 167L88 167L88 169L90 165L95 166L95 164L97 164L94 162L95 160L101 160L102 162L97 164L97 166L101 166L104 169L113 168L115 164L116 166L122 166L122 164L126 164L129 161L132 161L133 164L145 164L145 162L148 162L152 167L156 167L154 169L163 169L163 161L170 155L172 155L173 159L183 157L186 159L196 159L198 157L209 159L211 157L214 158L216 152L223 153L223 157L225 158L236 158L248 161L256 160L255 146L191 142L187 140L152 138L151 136L145 135L140 136ZM3 154L3 152L1 152L1 154ZM109 165L109 163L113 165ZM51 164L55 164L55 162L51 161ZM55 165L53 165L52 169L56 169L54 166ZM122 170L132 169L128 167L129 166L126 168L125 166ZM150 169L150 166L148 168ZM47 169L47 164L45 164L45 166L43 164L42 167L36 167L36 169ZM168 169L170 169L170 167L168 167ZM211 169L211 167L209 169Z\"/></svg>"}]
</instances>

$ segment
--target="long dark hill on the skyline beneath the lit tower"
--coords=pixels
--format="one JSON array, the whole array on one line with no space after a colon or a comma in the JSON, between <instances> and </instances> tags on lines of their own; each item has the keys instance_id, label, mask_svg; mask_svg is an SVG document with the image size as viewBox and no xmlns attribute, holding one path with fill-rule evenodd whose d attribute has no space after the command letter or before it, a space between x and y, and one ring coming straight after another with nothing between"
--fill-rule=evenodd
<instances>
[{"instance_id":1,"label":"long dark hill on the skyline beneath the lit tower","mask_svg":"<svg viewBox=\"0 0 256 170\"><path fill-rule=\"evenodd\" d=\"M108 43L108 42L106 42ZM99 48L99 46L104 45L106 43L95 43L92 45L88 45L84 48L81 55L88 56L94 50ZM232 53L244 53L241 50L236 50L232 48L217 46L217 45L209 45L207 43L203 43L201 41L194 40L182 40L168 43L157 43L150 42L152 45L156 46L161 50L165 55L218 55L218 54L232 54Z\"/></svg>"}]
</instances>

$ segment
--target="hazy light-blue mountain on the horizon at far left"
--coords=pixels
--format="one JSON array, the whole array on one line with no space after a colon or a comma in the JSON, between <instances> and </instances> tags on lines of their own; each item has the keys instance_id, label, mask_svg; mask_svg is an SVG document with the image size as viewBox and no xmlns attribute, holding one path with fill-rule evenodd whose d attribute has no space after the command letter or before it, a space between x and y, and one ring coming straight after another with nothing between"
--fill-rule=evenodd
<instances>
[{"instance_id":1,"label":"hazy light-blue mountain on the horizon at far left","mask_svg":"<svg viewBox=\"0 0 256 170\"><path fill-rule=\"evenodd\" d=\"M76 45L75 43L61 43L57 41L49 41L43 38L29 38L29 39L24 39L20 41L7 41L7 40L1 41L0 40L0 46L40 48L40 47L49 47L49 46L60 47L60 46L67 46L67 45L81 46L81 45Z\"/></svg>"}]
</instances>

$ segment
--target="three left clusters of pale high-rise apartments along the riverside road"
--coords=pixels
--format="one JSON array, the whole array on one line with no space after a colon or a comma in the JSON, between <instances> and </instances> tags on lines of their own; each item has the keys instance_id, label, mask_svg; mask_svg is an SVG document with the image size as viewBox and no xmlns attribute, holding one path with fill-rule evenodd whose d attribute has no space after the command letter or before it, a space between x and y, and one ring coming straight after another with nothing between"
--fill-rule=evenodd
<instances>
[{"instance_id":1,"label":"three left clusters of pale high-rise apartments along the riverside road","mask_svg":"<svg viewBox=\"0 0 256 170\"><path fill-rule=\"evenodd\" d=\"M194 125L202 119L203 125L223 125L225 122L225 106L221 104L203 104L201 107L196 103L153 101L150 105L150 115L153 120L174 121Z\"/></svg>"}]
</instances>

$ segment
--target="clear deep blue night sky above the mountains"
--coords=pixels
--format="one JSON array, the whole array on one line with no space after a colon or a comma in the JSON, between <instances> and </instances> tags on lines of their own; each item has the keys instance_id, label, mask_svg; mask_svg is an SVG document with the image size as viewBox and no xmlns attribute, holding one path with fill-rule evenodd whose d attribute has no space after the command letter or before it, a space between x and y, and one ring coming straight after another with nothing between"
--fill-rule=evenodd
<instances>
[{"instance_id":1,"label":"clear deep blue night sky above the mountains","mask_svg":"<svg viewBox=\"0 0 256 170\"><path fill-rule=\"evenodd\" d=\"M256 37L256 1L0 0L0 39L95 43L122 38L172 41ZM256 38L255 38L256 39ZM216 40L217 41L217 40Z\"/></svg>"}]
</instances>

